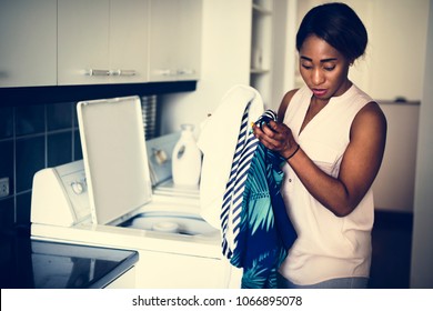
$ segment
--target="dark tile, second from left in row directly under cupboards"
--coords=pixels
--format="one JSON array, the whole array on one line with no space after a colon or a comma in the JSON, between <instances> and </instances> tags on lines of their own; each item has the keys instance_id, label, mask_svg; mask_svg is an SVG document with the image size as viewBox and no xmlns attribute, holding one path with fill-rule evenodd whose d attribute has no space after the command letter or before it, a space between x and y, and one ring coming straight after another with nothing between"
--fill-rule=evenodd
<instances>
[{"instance_id":1,"label":"dark tile, second from left in row directly under cupboards","mask_svg":"<svg viewBox=\"0 0 433 311\"><path fill-rule=\"evenodd\" d=\"M43 104L16 107L17 136L42 133L46 130L46 108Z\"/></svg>"}]
</instances>

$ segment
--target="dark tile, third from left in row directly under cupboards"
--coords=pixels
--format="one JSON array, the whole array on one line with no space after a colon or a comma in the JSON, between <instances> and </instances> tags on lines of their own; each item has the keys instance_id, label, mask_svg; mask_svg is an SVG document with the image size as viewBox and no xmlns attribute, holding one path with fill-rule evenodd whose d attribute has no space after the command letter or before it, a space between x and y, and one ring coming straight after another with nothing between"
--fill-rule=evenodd
<instances>
[{"instance_id":1,"label":"dark tile, third from left in row directly under cupboards","mask_svg":"<svg viewBox=\"0 0 433 311\"><path fill-rule=\"evenodd\" d=\"M69 129L72 127L72 103L47 104L47 130Z\"/></svg>"}]
</instances>

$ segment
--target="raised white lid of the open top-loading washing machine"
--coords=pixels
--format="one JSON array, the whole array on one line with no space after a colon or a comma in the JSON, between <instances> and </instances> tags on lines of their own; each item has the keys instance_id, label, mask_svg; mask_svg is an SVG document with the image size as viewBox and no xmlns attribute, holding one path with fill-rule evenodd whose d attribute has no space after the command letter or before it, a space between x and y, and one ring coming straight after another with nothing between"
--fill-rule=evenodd
<instances>
[{"instance_id":1,"label":"raised white lid of the open top-loading washing machine","mask_svg":"<svg viewBox=\"0 0 433 311\"><path fill-rule=\"evenodd\" d=\"M139 97L77 104L92 222L118 224L151 200Z\"/></svg>"}]
</instances>

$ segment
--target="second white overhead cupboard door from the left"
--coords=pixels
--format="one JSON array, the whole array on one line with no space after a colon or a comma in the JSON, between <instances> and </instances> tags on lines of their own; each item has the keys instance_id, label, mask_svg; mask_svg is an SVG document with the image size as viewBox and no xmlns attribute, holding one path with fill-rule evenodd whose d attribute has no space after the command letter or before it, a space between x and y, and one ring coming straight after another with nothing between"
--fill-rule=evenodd
<instances>
[{"instance_id":1,"label":"second white overhead cupboard door from the left","mask_svg":"<svg viewBox=\"0 0 433 311\"><path fill-rule=\"evenodd\" d=\"M109 14L109 0L58 0L58 84L108 82Z\"/></svg>"}]
</instances>

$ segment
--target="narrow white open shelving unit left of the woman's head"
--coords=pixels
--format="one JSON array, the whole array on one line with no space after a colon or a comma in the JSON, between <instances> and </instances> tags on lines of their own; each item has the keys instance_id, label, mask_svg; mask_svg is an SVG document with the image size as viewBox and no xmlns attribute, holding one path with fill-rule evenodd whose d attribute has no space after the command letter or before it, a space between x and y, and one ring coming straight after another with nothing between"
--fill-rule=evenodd
<instances>
[{"instance_id":1,"label":"narrow white open shelving unit left of the woman's head","mask_svg":"<svg viewBox=\"0 0 433 311\"><path fill-rule=\"evenodd\" d=\"M272 0L253 0L250 84L266 106L272 93Z\"/></svg>"}]
</instances>

